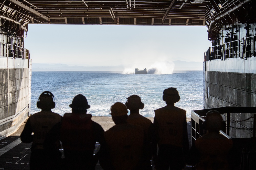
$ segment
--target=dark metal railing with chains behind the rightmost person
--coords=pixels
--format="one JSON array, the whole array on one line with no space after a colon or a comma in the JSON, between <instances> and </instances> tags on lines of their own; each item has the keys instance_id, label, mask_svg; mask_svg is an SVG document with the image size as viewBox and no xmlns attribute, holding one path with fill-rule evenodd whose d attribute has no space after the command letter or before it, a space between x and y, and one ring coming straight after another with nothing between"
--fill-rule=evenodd
<instances>
[{"instance_id":1,"label":"dark metal railing with chains behind the rightmost person","mask_svg":"<svg viewBox=\"0 0 256 170\"><path fill-rule=\"evenodd\" d=\"M203 127L203 122L205 122L206 113L209 110L217 110L224 117L226 122L226 130L221 131L224 136L231 138L231 130L243 130L251 131L253 139L253 150L256 150L256 107L222 107L213 109L203 109L191 111L191 140L192 144L195 140L206 134L206 130ZM244 120L232 120L230 115L232 114L249 114L247 119ZM251 123L248 123L251 122Z\"/></svg>"}]
</instances>

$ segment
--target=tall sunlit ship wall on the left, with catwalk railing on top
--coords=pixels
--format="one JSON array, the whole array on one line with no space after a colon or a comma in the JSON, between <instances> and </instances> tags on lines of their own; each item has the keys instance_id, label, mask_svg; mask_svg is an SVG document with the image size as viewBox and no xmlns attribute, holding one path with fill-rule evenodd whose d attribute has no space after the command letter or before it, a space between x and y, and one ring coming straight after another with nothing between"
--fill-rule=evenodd
<instances>
[{"instance_id":1,"label":"tall sunlit ship wall on the left, with catwalk railing on top","mask_svg":"<svg viewBox=\"0 0 256 170\"><path fill-rule=\"evenodd\" d=\"M30 116L31 60L23 38L0 30L0 139Z\"/></svg>"}]
</instances>

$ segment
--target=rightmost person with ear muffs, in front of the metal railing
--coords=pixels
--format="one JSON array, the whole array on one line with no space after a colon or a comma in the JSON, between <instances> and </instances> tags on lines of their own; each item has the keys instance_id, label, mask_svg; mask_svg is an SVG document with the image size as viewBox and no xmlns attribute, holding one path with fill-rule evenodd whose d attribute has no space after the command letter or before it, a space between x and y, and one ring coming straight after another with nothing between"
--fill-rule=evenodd
<instances>
[{"instance_id":1,"label":"rightmost person with ear muffs, in front of the metal railing","mask_svg":"<svg viewBox=\"0 0 256 170\"><path fill-rule=\"evenodd\" d=\"M223 128L223 119L216 110L206 114L204 122L207 134L195 141L195 146L190 149L191 158L194 159L198 170L228 170L228 154L233 142L219 133Z\"/></svg>"}]
</instances>

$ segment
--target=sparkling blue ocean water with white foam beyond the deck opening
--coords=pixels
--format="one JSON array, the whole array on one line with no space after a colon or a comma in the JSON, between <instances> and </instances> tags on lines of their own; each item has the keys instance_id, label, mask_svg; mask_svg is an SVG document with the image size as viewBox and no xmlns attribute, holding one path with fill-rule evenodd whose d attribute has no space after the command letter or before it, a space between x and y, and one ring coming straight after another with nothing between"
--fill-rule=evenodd
<instances>
[{"instance_id":1,"label":"sparkling blue ocean water with white foam beyond the deck opening","mask_svg":"<svg viewBox=\"0 0 256 170\"><path fill-rule=\"evenodd\" d=\"M175 87L180 101L175 106L187 111L203 109L203 71L174 71L173 74L122 74L113 72L69 71L32 72L31 114L43 91L51 91L56 107L53 112L63 115L71 112L74 96L86 96L91 106L87 113L93 116L110 116L115 102L125 103L127 97L138 95L144 103L143 116L154 116L154 110L164 107L163 90Z\"/></svg>"}]
</instances>

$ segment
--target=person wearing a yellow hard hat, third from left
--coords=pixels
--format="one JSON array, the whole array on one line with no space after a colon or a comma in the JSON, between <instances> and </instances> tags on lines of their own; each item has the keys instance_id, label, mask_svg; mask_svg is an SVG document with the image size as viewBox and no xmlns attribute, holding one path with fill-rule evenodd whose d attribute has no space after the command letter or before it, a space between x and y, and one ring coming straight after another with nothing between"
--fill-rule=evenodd
<instances>
[{"instance_id":1,"label":"person wearing a yellow hard hat, third from left","mask_svg":"<svg viewBox=\"0 0 256 170\"><path fill-rule=\"evenodd\" d=\"M127 108L116 102L111 107L115 126L104 133L109 153L101 152L104 169L143 169L139 167L143 155L144 132L140 126L127 123Z\"/></svg>"}]
</instances>

